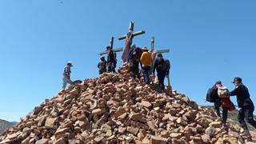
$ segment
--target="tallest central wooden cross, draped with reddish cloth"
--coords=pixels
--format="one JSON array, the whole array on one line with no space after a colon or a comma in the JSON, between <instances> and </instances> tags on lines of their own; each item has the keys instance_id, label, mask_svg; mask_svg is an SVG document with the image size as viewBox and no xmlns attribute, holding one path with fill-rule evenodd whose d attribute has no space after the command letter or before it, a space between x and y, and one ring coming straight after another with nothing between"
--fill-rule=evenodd
<instances>
[{"instance_id":1,"label":"tallest central wooden cross, draped with reddish cloth","mask_svg":"<svg viewBox=\"0 0 256 144\"><path fill-rule=\"evenodd\" d=\"M126 46L125 46L125 50L122 53L122 62L126 62L128 54L129 54L129 50L130 50L130 46L133 43L133 38L135 36L141 35L141 34L145 34L146 32L144 30L140 30L137 32L134 32L134 22L130 22L130 26L129 26L129 32L125 35L122 35L121 37L118 38L118 40L122 40L122 39L126 39Z\"/></svg>"}]
</instances>

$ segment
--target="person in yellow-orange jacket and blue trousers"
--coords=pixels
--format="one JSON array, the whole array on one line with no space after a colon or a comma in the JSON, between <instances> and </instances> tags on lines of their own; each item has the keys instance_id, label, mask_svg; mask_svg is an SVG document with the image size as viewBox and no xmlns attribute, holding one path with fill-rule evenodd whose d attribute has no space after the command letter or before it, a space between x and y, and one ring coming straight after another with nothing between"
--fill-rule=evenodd
<instances>
[{"instance_id":1,"label":"person in yellow-orange jacket and blue trousers","mask_svg":"<svg viewBox=\"0 0 256 144\"><path fill-rule=\"evenodd\" d=\"M142 64L142 70L143 70L143 78L146 84L150 84L150 66L152 64L152 58L151 54L149 53L149 50L147 50L146 47L142 48L142 57L141 57L141 64Z\"/></svg>"}]
</instances>

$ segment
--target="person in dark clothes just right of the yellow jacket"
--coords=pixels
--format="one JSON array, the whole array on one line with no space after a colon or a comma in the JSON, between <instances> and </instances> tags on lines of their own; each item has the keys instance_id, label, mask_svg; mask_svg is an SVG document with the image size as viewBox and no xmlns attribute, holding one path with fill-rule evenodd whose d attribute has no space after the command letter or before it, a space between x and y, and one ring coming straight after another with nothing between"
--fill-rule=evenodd
<instances>
[{"instance_id":1,"label":"person in dark clothes just right of the yellow jacket","mask_svg":"<svg viewBox=\"0 0 256 144\"><path fill-rule=\"evenodd\" d=\"M159 91L162 93L165 90L164 80L169 77L170 71L170 61L163 58L162 54L158 54L158 58L156 58L154 62L153 74L157 70L158 72L158 86ZM155 77L155 74L154 74Z\"/></svg>"}]
</instances>

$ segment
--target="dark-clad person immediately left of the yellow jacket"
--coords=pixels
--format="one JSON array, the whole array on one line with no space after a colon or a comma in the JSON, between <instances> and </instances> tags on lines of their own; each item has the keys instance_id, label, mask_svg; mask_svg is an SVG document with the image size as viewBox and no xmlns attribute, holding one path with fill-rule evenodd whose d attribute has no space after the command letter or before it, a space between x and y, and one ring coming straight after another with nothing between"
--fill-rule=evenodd
<instances>
[{"instance_id":1,"label":"dark-clad person immediately left of the yellow jacket","mask_svg":"<svg viewBox=\"0 0 256 144\"><path fill-rule=\"evenodd\" d=\"M139 62L140 58L142 56L142 50L139 47L136 47L133 52L130 54L129 59L129 68L130 68L130 74L133 78L141 78L141 75L139 74Z\"/></svg>"}]
</instances>

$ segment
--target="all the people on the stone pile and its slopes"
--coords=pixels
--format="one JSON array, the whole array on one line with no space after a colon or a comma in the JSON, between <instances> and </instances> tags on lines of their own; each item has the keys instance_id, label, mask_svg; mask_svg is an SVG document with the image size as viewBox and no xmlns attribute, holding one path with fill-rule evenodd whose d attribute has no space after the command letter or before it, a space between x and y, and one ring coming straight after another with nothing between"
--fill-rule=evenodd
<instances>
[{"instance_id":1,"label":"all the people on the stone pile and its slopes","mask_svg":"<svg viewBox=\"0 0 256 144\"><path fill-rule=\"evenodd\" d=\"M115 72L117 64L116 54L111 50L110 46L106 47L107 60L104 57L101 58L101 62L98 63L99 74L105 72ZM129 51L127 62L124 63L130 67L130 74L133 78L140 79L139 64L142 67L143 78L146 84L150 84L150 69L153 66L152 73L157 70L158 73L158 85L162 92L164 90L164 79L169 77L170 62L162 57L162 54L158 54L155 60L152 58L152 52L150 53L146 47L139 48L132 46ZM72 84L70 80L71 70L73 66L72 62L67 62L63 72L63 85L62 89L65 90L67 83ZM242 83L242 78L234 78L234 90L229 91L222 85L221 81L215 82L206 95L206 101L214 102L214 111L218 117L222 118L222 127L226 128L226 120L228 118L228 111L235 110L233 102L230 101L230 96L236 96L238 102L238 122L244 129L244 135L250 134L248 127L246 126L245 118L250 125L256 128L256 121L254 120L254 103L250 99L250 93L248 88ZM222 116L220 114L220 107L222 106Z\"/></svg>"}]
</instances>

